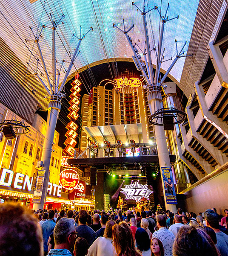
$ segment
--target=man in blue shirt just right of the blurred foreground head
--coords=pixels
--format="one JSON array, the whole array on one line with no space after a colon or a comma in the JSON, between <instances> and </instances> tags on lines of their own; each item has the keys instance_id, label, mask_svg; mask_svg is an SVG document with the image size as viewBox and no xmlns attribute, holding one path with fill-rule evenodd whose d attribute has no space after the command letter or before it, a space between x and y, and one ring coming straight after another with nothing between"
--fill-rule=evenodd
<instances>
[{"instance_id":1,"label":"man in blue shirt just right of the blurred foreground head","mask_svg":"<svg viewBox=\"0 0 228 256\"><path fill-rule=\"evenodd\" d=\"M54 211L50 210L48 213L48 220L42 224L42 233L43 233L43 250L44 255L48 253L48 238L51 235L52 231L54 230L55 223L54 223Z\"/></svg>"}]
</instances>

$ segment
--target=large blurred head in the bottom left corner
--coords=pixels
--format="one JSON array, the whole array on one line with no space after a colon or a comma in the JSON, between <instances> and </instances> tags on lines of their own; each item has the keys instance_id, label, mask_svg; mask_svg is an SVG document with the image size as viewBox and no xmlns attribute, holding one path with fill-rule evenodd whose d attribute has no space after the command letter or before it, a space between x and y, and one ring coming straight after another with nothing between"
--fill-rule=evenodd
<instances>
[{"instance_id":1,"label":"large blurred head in the bottom left corner","mask_svg":"<svg viewBox=\"0 0 228 256\"><path fill-rule=\"evenodd\" d=\"M0 255L43 256L40 225L19 204L0 204Z\"/></svg>"}]
</instances>

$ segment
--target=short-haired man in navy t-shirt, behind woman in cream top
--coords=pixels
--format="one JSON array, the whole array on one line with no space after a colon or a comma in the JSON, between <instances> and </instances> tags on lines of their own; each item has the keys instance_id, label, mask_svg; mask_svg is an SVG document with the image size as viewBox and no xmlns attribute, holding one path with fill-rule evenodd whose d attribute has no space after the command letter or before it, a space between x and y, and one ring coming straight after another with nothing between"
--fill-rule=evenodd
<instances>
[{"instance_id":1,"label":"short-haired man in navy t-shirt, behind woman in cream top","mask_svg":"<svg viewBox=\"0 0 228 256\"><path fill-rule=\"evenodd\" d=\"M86 239L88 246L90 247L96 239L96 233L93 229L91 229L91 227L86 225L87 218L87 212L85 210L80 210L78 219L79 226L76 227L76 232L78 232L78 237L83 237Z\"/></svg>"}]
</instances>

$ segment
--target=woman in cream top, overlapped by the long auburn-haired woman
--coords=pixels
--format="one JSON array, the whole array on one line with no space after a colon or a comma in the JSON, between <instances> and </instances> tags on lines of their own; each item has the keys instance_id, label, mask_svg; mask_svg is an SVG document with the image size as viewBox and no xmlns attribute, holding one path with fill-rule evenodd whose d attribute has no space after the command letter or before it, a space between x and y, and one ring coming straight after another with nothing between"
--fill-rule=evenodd
<instances>
[{"instance_id":1,"label":"woman in cream top, overlapped by the long auburn-haired woman","mask_svg":"<svg viewBox=\"0 0 228 256\"><path fill-rule=\"evenodd\" d=\"M112 227L116 224L114 220L109 220L105 227L104 236L98 237L88 249L87 256L109 255L115 256L116 252L112 245Z\"/></svg>"}]
</instances>

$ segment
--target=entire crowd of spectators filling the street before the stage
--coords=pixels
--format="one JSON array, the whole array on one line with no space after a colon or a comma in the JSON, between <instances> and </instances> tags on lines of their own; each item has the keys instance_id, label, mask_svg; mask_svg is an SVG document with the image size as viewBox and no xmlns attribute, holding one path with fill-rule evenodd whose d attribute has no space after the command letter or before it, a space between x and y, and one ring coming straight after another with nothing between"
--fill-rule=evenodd
<instances>
[{"instance_id":1,"label":"entire crowd of spectators filling the street before the stage","mask_svg":"<svg viewBox=\"0 0 228 256\"><path fill-rule=\"evenodd\" d=\"M228 209L31 212L0 205L0 256L228 256Z\"/></svg>"}]
</instances>

